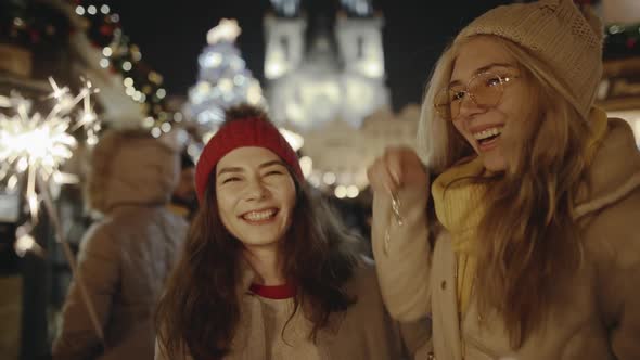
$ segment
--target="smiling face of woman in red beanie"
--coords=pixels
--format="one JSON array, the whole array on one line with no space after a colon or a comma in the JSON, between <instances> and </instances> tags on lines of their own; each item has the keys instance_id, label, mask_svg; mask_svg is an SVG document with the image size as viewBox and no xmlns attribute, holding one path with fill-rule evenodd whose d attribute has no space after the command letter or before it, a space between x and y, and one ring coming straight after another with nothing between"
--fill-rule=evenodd
<instances>
[{"instance_id":1,"label":"smiling face of woman in red beanie","mask_svg":"<svg viewBox=\"0 0 640 360\"><path fill-rule=\"evenodd\" d=\"M289 230L296 189L284 162L264 147L239 147L216 166L222 223L245 248L278 248Z\"/></svg>"}]
</instances>

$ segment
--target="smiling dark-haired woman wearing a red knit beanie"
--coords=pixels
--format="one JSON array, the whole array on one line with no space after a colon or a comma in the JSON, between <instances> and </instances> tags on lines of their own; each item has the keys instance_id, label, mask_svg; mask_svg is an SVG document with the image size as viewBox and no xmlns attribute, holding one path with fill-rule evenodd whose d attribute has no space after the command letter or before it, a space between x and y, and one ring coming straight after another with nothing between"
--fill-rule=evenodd
<instances>
[{"instance_id":1,"label":"smiling dark-haired woman wearing a red knit beanie","mask_svg":"<svg viewBox=\"0 0 640 360\"><path fill-rule=\"evenodd\" d=\"M258 108L227 112L196 191L201 208L157 309L156 359L399 359L426 340L425 322L389 321L356 240L311 197Z\"/></svg>"}]
</instances>

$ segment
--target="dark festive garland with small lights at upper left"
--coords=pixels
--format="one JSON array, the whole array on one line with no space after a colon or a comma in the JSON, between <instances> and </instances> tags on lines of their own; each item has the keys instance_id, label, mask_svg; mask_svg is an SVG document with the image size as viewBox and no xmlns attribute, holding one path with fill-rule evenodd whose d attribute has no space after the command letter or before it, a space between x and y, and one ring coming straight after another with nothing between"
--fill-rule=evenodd
<instances>
[{"instance_id":1,"label":"dark festive garland with small lights at upper left","mask_svg":"<svg viewBox=\"0 0 640 360\"><path fill-rule=\"evenodd\" d=\"M140 49L123 33L119 15L104 1L67 0L77 15L86 20L82 29L103 59L100 66L126 79L127 94L142 104L143 114L153 121L145 126L159 129L172 121L167 110L163 77L142 61ZM30 50L63 47L74 31L68 18L53 7L25 0L0 1L0 42ZM164 127L164 129L170 129Z\"/></svg>"}]
</instances>

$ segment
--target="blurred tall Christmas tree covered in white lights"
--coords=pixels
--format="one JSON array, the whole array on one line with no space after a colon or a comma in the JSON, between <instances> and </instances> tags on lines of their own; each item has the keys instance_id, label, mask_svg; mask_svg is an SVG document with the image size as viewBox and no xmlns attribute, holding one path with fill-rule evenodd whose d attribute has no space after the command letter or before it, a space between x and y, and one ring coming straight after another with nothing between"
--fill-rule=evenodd
<instances>
[{"instance_id":1,"label":"blurred tall Christmas tree covered in white lights","mask_svg":"<svg viewBox=\"0 0 640 360\"><path fill-rule=\"evenodd\" d=\"M208 46L199 56L197 83L189 90L184 113L215 130L227 107L247 102L264 104L263 90L235 47L241 29L235 20L223 18L207 34Z\"/></svg>"}]
</instances>

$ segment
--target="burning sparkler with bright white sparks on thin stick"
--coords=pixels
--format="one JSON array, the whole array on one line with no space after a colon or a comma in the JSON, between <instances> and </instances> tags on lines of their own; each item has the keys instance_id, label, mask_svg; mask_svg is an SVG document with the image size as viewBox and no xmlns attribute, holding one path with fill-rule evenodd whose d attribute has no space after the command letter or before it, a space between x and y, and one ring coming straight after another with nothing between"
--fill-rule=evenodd
<instances>
[{"instance_id":1,"label":"burning sparkler with bright white sparks on thin stick","mask_svg":"<svg viewBox=\"0 0 640 360\"><path fill-rule=\"evenodd\" d=\"M53 78L49 78L53 92L47 99L52 99L55 103L47 116L38 112L30 114L31 101L15 91L10 97L0 95L0 107L8 108L7 113L13 113L7 115L0 112L0 181L7 180L7 190L13 191L26 177L25 197L31 219L16 230L16 254L43 254L42 248L29 234L38 222L38 209L42 201L55 230L56 242L61 244L72 274L78 283L94 331L106 347L94 307L82 280L77 277L73 253L64 239L57 211L49 194L51 182L68 178L60 172L59 168L72 157L77 145L71 132L82 128L87 134L87 142L97 142L95 132L100 130L100 124L91 106L90 97L98 92L98 89L94 89L90 81L81 80L81 89L74 97L68 87L61 88ZM76 118L72 113L80 102L84 106Z\"/></svg>"}]
</instances>

